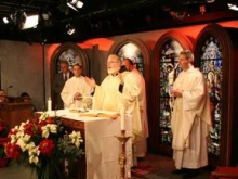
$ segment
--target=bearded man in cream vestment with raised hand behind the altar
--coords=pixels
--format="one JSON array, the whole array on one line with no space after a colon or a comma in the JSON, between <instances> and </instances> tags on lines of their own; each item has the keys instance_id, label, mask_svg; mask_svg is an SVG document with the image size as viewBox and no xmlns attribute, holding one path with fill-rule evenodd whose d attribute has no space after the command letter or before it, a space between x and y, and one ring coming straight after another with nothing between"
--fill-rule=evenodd
<instances>
[{"instance_id":1,"label":"bearded man in cream vestment with raised hand behind the altar","mask_svg":"<svg viewBox=\"0 0 238 179\"><path fill-rule=\"evenodd\" d=\"M87 82L92 88L95 88L92 108L120 113L122 106L124 106L125 113L132 115L132 132L135 136L142 136L141 119L134 117L140 117L140 106L137 99L138 89L135 82L130 82L131 80L129 80L129 78L127 79L129 73L119 73L120 67L121 60L119 56L116 54L110 54L107 59L108 75L103 80L101 86L96 85L93 78L87 78ZM123 82L123 91L119 91L119 87Z\"/></svg>"}]
</instances>

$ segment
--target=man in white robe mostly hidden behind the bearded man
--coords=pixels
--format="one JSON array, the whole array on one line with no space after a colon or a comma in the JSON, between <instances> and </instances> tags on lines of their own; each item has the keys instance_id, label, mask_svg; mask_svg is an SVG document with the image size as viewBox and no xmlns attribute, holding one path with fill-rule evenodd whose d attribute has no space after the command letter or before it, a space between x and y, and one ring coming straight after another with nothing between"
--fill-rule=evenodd
<instances>
[{"instance_id":1,"label":"man in white robe mostly hidden behind the bearded man","mask_svg":"<svg viewBox=\"0 0 238 179\"><path fill-rule=\"evenodd\" d=\"M147 106L146 106L146 88L145 79L142 74L134 67L133 62L130 59L124 59L122 65L127 67L132 76L132 81L135 81L138 88L138 103L140 103L140 113L142 120L142 133L143 136L137 139L135 143L136 156L144 158L147 152L147 138L148 133L148 119L147 119Z\"/></svg>"}]
</instances>

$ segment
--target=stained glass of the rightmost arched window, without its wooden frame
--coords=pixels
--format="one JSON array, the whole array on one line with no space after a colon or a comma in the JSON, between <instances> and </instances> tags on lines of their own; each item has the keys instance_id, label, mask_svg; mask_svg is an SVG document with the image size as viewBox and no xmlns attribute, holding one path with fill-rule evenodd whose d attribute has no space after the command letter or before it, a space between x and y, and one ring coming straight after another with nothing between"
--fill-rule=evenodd
<instances>
[{"instance_id":1,"label":"stained glass of the rightmost arched window, without its wooden frame","mask_svg":"<svg viewBox=\"0 0 238 179\"><path fill-rule=\"evenodd\" d=\"M211 116L213 128L210 132L209 154L219 156L221 145L221 117L222 117L222 49L220 41L210 36L201 47L200 68L203 73L211 102Z\"/></svg>"}]
</instances>

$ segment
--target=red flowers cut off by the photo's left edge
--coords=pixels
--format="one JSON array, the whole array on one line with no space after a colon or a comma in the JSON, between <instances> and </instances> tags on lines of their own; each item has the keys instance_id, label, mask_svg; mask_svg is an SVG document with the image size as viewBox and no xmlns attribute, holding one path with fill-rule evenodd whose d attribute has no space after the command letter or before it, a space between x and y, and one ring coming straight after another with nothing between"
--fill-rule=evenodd
<instances>
[{"instance_id":1,"label":"red flowers cut off by the photo's left edge","mask_svg":"<svg viewBox=\"0 0 238 179\"><path fill-rule=\"evenodd\" d=\"M8 133L9 133L9 125L0 119L0 167L4 167L8 164L8 157L4 151L4 144L8 141Z\"/></svg>"}]
</instances>

